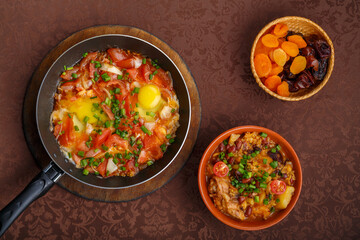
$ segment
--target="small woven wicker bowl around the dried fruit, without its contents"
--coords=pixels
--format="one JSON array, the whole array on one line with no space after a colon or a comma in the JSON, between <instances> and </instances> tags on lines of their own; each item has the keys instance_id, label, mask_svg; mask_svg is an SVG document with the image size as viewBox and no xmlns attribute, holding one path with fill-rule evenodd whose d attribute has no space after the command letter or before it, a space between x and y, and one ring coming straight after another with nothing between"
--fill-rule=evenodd
<instances>
[{"instance_id":1,"label":"small woven wicker bowl around the dried fruit, without its contents","mask_svg":"<svg viewBox=\"0 0 360 240\"><path fill-rule=\"evenodd\" d=\"M268 89L261 82L259 76L257 75L257 73L255 71L255 65L254 65L255 47L256 47L258 41L271 27L273 27L277 23L284 23L284 24L286 24L288 26L289 31L302 33L305 36L308 36L308 35L311 35L311 34L316 34L316 35L320 36L322 39L324 39L329 44L329 46L331 48L331 56L330 56L329 62L328 62L327 73L326 73L324 79L321 81L321 83L317 84L315 86L312 86L310 88L307 88L307 89L301 89L301 90L299 90L298 92L295 92L295 93L290 93L289 97L280 96L279 94L277 94L277 93L271 91L270 89ZM254 77L256 79L256 82L259 84L259 86L262 89L264 89L265 92L267 92L271 96L276 97L276 98L278 98L280 100L285 100L285 101L304 100L304 99L307 99L307 98L313 96L317 92L319 92L325 86L325 84L328 82L328 80L329 80L329 78L331 76L332 70L334 68L334 61L335 61L334 46L333 46L333 43L332 43L331 39L326 34L326 32L319 25L314 23L313 21L311 21L311 20L309 20L307 18L295 17L295 16L282 17L282 18L275 19L274 21L267 24L263 29L261 29L261 31L258 33L258 35L255 38L255 41L254 41L253 46L251 48L251 56L250 56L251 71L252 71L252 73L253 73L253 75L254 75Z\"/></svg>"}]
</instances>

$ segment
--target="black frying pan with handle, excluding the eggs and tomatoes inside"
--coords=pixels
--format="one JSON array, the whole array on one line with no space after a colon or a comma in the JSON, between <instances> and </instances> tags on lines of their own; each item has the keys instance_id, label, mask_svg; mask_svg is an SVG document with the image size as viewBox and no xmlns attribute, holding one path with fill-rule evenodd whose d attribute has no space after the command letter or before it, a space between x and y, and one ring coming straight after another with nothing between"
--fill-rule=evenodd
<instances>
[{"instance_id":1,"label":"black frying pan with handle, excluding the eggs and tomatoes inside","mask_svg":"<svg viewBox=\"0 0 360 240\"><path fill-rule=\"evenodd\" d=\"M158 59L159 65L171 73L174 89L180 103L180 127L176 132L177 141L170 145L162 159L140 171L139 174L132 178L111 177L102 179L93 174L84 176L80 169L77 169L74 164L68 162L60 151L54 135L50 132L53 97L60 82L59 76L63 71L63 66L75 64L85 52L105 51L110 47L128 49L139 52L151 59ZM52 162L12 202L0 211L0 236L27 206L44 195L63 174L68 174L74 180L84 184L103 189L133 187L160 174L176 158L186 140L191 119L190 106L189 92L179 69L164 52L142 39L122 34L107 34L86 39L69 48L53 63L46 73L37 97L37 127L42 144Z\"/></svg>"}]
</instances>

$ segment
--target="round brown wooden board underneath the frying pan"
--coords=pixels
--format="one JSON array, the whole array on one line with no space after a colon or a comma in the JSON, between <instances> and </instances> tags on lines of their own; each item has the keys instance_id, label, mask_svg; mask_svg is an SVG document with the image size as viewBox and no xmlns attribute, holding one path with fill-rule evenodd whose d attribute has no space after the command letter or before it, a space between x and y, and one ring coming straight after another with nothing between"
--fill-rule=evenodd
<instances>
[{"instance_id":1,"label":"round brown wooden board underneath the frying pan","mask_svg":"<svg viewBox=\"0 0 360 240\"><path fill-rule=\"evenodd\" d=\"M59 186L65 188L66 190L87 199L106 202L129 201L143 197L159 189L181 170L192 152L200 127L201 106L196 83L185 62L182 60L179 54L177 54L166 43L141 29L118 25L91 27L74 33L62 41L54 49L52 49L35 70L24 98L22 118L23 130L32 155L40 167L44 168L49 164L51 159L41 144L35 117L36 98L42 79L53 62L69 47L83 41L84 39L104 34L125 34L138 37L152 43L161 49L179 68L182 76L185 79L191 98L192 117L188 137L185 141L185 144L179 155L170 164L170 166L168 166L155 178L140 185L125 189L100 189L91 187L76 181L66 174L57 182Z\"/></svg>"}]
</instances>

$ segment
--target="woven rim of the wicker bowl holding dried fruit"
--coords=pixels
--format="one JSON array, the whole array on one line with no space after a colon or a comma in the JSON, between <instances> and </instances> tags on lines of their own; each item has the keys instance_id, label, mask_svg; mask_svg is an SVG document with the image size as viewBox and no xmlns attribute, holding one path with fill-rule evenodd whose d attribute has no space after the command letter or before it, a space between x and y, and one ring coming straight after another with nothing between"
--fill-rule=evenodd
<instances>
[{"instance_id":1,"label":"woven rim of the wicker bowl holding dried fruit","mask_svg":"<svg viewBox=\"0 0 360 240\"><path fill-rule=\"evenodd\" d=\"M323 38L326 40L326 42L329 44L330 48L331 48L331 55L329 57L329 63L328 63L328 69L326 72L326 75L324 77L324 79L322 80L322 82L320 84L318 84L317 86L315 86L313 89L311 89L309 92L305 93L304 95L301 96L289 96L289 97L283 97L280 96L279 94L271 91L270 89L268 89L261 81L261 79L259 78L259 76L257 75L256 71L255 71L255 66L254 66L254 55L255 55L255 48L256 48L256 44L258 43L258 41L260 40L260 38L264 35L264 33L266 31L269 30L270 27L274 26L277 23L280 22L285 22L287 20L299 20L299 21L303 21L303 22L307 22L310 23L311 25L314 26L314 28L317 29L317 31L319 31L322 35ZM334 50L334 45L330 39L330 37L327 35L327 33L315 22L311 21L310 19L304 18L304 17L299 17L299 16L285 16L285 17L281 17L281 18L277 18L274 19L273 21L269 22L268 24L266 24L260 31L259 33L256 35L255 40L253 42L253 45L251 47L251 54L250 54L250 65L251 65L251 71L252 74L257 82L257 84L268 94L270 94L271 96L278 98L280 100L284 100L284 101L300 101L300 100L304 100L307 99L313 95L315 95L316 93L318 93L325 85L326 83L329 81L331 73L333 71L334 68L334 62L335 62L335 50Z\"/></svg>"}]
</instances>

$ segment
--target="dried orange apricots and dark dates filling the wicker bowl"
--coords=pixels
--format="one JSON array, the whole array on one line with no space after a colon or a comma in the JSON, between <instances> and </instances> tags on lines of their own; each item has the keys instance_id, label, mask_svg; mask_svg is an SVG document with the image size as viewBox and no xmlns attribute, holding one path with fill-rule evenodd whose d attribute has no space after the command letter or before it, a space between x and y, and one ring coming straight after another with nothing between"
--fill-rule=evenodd
<instances>
[{"instance_id":1,"label":"dried orange apricots and dark dates filling the wicker bowl","mask_svg":"<svg viewBox=\"0 0 360 240\"><path fill-rule=\"evenodd\" d=\"M267 88L288 97L322 81L330 55L329 44L319 36L303 36L278 23L258 41L254 65Z\"/></svg>"}]
</instances>

